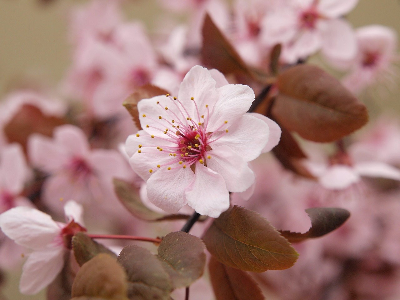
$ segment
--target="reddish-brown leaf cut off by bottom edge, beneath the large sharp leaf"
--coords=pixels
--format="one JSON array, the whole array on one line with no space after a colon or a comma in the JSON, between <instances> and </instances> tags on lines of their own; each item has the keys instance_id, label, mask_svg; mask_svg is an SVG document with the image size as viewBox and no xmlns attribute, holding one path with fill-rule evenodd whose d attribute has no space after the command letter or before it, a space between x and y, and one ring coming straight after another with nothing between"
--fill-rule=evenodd
<instances>
[{"instance_id":1,"label":"reddish-brown leaf cut off by bottom edge, beneath the large sharp leaf","mask_svg":"<svg viewBox=\"0 0 400 300\"><path fill-rule=\"evenodd\" d=\"M258 284L243 270L221 264L214 257L208 263L216 300L263 300Z\"/></svg>"}]
</instances>

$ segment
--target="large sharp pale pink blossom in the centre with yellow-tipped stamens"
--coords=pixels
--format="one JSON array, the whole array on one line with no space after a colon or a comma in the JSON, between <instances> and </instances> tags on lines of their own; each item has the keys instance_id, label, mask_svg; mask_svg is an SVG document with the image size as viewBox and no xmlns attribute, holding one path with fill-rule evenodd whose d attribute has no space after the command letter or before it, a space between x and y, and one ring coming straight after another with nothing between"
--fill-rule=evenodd
<instances>
[{"instance_id":1,"label":"large sharp pale pink blossom in the centre with yellow-tipped stamens","mask_svg":"<svg viewBox=\"0 0 400 300\"><path fill-rule=\"evenodd\" d=\"M126 152L156 206L175 213L188 204L218 217L229 207L228 191L252 185L247 162L277 144L269 136L280 136L272 120L246 113L253 100L248 86L228 84L220 72L194 66L178 97L138 103L143 130L128 137ZM268 126L272 123L276 127Z\"/></svg>"}]
</instances>

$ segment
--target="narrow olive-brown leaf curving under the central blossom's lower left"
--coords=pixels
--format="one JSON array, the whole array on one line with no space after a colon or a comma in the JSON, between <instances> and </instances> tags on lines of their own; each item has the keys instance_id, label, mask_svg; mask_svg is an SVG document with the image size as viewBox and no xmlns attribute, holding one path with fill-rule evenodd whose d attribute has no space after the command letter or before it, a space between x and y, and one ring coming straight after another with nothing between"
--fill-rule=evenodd
<instances>
[{"instance_id":1,"label":"narrow olive-brown leaf curving under the central blossom's lower left","mask_svg":"<svg viewBox=\"0 0 400 300\"><path fill-rule=\"evenodd\" d=\"M140 200L138 190L124 180L113 178L114 191L125 208L136 218L145 221L186 220L190 216L184 214L164 215L150 210Z\"/></svg>"}]
</instances>

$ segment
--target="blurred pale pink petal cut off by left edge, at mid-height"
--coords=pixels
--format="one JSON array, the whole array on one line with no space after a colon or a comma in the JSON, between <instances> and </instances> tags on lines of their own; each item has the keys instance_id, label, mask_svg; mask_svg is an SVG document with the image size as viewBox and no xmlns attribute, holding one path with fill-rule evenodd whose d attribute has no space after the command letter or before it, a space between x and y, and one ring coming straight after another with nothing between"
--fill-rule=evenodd
<instances>
[{"instance_id":1,"label":"blurred pale pink petal cut off by left edge, at mid-height","mask_svg":"<svg viewBox=\"0 0 400 300\"><path fill-rule=\"evenodd\" d=\"M9 144L3 148L0 160L0 187L12 194L19 194L28 179L29 171L20 144Z\"/></svg>"}]
</instances>

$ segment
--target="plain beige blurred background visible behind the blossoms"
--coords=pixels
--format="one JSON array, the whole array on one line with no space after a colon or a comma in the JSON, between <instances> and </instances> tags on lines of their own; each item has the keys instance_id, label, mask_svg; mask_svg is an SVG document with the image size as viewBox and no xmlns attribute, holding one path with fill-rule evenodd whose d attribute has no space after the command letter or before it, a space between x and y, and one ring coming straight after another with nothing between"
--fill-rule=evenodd
<instances>
[{"instance_id":1,"label":"plain beige blurred background visible behind the blossoms","mask_svg":"<svg viewBox=\"0 0 400 300\"><path fill-rule=\"evenodd\" d=\"M24 82L55 88L70 62L66 41L65 12L82 1L58 0L40 5L34 0L0 0L0 98ZM130 0L126 5L129 18L140 16L148 25L160 22L162 15L150 0ZM348 16L354 27L383 24L400 32L399 0L360 0ZM158 18L156 18L158 17ZM390 94L381 108L398 106L399 89ZM44 293L22 296L18 293L18 274L12 272L2 288L9 300L44 299Z\"/></svg>"}]
</instances>

